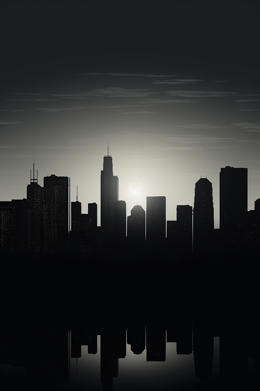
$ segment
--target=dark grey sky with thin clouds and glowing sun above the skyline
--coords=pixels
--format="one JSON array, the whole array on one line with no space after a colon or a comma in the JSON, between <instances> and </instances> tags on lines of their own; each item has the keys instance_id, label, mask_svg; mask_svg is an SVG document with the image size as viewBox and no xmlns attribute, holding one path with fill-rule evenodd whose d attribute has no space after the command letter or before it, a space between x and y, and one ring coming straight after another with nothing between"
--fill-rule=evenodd
<instances>
[{"instance_id":1,"label":"dark grey sky with thin clouds and glowing sun above the skyline","mask_svg":"<svg viewBox=\"0 0 260 391\"><path fill-rule=\"evenodd\" d=\"M248 210L254 209L260 198L257 2L225 9L214 1L210 7L108 3L5 5L0 201L26 197L35 163L40 185L51 174L71 178L71 201L78 185L82 213L96 202L99 225L109 142L127 215L136 204L146 210L147 196L163 195L166 219L175 220L176 206L193 206L195 183L207 176L219 228L225 166L248 168Z\"/></svg>"}]
</instances>

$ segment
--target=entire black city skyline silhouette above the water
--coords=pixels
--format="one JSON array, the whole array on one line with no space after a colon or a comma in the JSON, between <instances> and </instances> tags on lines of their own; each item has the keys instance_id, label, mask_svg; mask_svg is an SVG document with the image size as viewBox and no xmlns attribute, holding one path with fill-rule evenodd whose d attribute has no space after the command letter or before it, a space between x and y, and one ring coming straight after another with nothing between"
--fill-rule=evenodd
<instances>
[{"instance_id":1,"label":"entire black city skyline silhouette above the water","mask_svg":"<svg viewBox=\"0 0 260 391\"><path fill-rule=\"evenodd\" d=\"M126 216L119 200L119 178L110 155L104 156L100 181L100 220L97 203L81 213L81 202L70 201L70 178L54 174L38 184L38 173L27 186L27 199L0 202L2 253L28 255L103 256L108 246L128 256L136 246L166 251L173 260L207 257L219 252L259 257L260 199L248 211L248 170L225 167L219 173L220 228L214 229L212 183L195 183L194 206L177 205L177 220L166 221L166 197L147 197L145 210L135 205ZM146 228L145 228L146 226ZM70 228L71 227L71 228Z\"/></svg>"}]
</instances>

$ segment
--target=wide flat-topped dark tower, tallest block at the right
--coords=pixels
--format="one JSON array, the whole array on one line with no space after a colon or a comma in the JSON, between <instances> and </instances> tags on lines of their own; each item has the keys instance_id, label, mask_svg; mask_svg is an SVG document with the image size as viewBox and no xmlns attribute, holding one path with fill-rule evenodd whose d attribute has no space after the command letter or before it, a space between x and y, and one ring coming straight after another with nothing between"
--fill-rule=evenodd
<instances>
[{"instance_id":1,"label":"wide flat-topped dark tower, tallest block at the right","mask_svg":"<svg viewBox=\"0 0 260 391\"><path fill-rule=\"evenodd\" d=\"M228 229L248 211L248 169L226 166L219 173L219 228Z\"/></svg>"}]
</instances>

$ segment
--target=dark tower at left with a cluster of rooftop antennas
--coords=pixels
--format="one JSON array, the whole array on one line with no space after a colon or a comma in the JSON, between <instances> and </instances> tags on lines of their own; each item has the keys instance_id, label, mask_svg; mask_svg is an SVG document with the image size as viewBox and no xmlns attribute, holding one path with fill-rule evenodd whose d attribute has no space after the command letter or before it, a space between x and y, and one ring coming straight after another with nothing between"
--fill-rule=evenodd
<instances>
[{"instance_id":1,"label":"dark tower at left with a cluster of rooftop antennas","mask_svg":"<svg viewBox=\"0 0 260 391\"><path fill-rule=\"evenodd\" d=\"M44 233L43 233L43 216L42 216L42 197L43 197L43 187L38 185L38 170L37 176L35 178L33 170L30 170L30 184L27 185L27 200L37 212L35 215L35 221L33 226L31 226L31 248L34 249L34 252L43 252L44 250ZM32 231L34 231L34 238L32 237Z\"/></svg>"}]
</instances>

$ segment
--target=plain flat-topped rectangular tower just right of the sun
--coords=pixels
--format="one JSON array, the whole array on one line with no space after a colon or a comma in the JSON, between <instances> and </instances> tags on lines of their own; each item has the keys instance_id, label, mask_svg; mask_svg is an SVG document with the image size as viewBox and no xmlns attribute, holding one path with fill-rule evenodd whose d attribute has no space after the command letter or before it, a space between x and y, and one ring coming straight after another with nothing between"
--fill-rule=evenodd
<instances>
[{"instance_id":1,"label":"plain flat-topped rectangular tower just right of the sun","mask_svg":"<svg viewBox=\"0 0 260 391\"><path fill-rule=\"evenodd\" d=\"M146 240L166 237L166 197L146 197Z\"/></svg>"}]
</instances>

